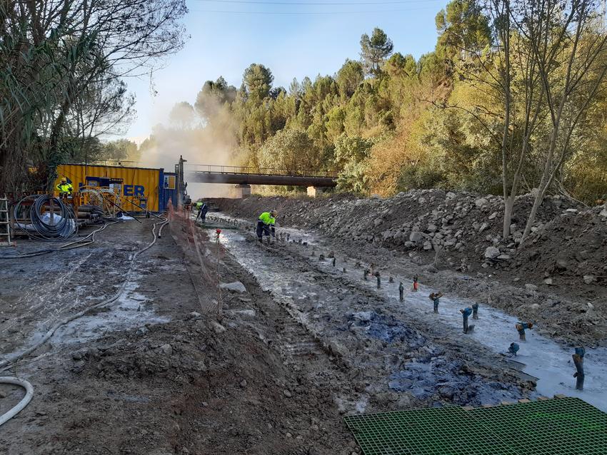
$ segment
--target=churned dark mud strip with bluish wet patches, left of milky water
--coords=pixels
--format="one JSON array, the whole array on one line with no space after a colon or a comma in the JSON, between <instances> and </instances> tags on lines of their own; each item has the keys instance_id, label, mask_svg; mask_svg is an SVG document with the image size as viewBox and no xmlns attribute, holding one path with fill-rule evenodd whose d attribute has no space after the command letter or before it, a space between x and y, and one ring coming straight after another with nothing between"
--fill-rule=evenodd
<instances>
[{"instance_id":1,"label":"churned dark mud strip with bluish wet patches, left of milky water","mask_svg":"<svg viewBox=\"0 0 607 455\"><path fill-rule=\"evenodd\" d=\"M274 281L274 299L282 300L291 317L304 324L324 349L341 354L348 377L363 384L373 410L394 409L394 402L404 407L496 403L526 396L533 387L487 349L460 337L452 339L451 329L414 317L399 320L385 297L340 275L337 268L323 270L299 243L235 243L228 242L228 249L254 272L262 287L275 273L264 259L280 266L276 276L291 275L282 287ZM257 270L244 255L259 257ZM362 411L365 406L359 400L358 406L346 408Z\"/></svg>"}]
</instances>

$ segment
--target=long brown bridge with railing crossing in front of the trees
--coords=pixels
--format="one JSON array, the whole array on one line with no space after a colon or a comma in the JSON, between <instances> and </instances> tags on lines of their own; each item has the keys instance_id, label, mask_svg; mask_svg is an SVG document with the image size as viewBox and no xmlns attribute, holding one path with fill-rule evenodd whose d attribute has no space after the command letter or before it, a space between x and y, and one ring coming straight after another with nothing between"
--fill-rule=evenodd
<instances>
[{"instance_id":1,"label":"long brown bridge with railing crossing in front of the trees","mask_svg":"<svg viewBox=\"0 0 607 455\"><path fill-rule=\"evenodd\" d=\"M317 188L331 188L337 185L336 173L331 172L199 164L184 167L186 180L196 183L291 185Z\"/></svg>"}]
</instances>

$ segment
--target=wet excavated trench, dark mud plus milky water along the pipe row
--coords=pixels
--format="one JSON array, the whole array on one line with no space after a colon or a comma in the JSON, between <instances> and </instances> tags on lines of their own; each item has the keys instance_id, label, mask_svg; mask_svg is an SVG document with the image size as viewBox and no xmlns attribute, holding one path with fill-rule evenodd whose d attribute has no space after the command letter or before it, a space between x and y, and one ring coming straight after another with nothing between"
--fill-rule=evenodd
<instances>
[{"instance_id":1,"label":"wet excavated trench, dark mud plus milky water along the pipe row","mask_svg":"<svg viewBox=\"0 0 607 455\"><path fill-rule=\"evenodd\" d=\"M363 377L367 386L361 399L344 411L363 411L368 395L386 391L435 406L566 394L607 410L605 348L586 349L586 384L576 391L572 347L533 330L527 331L526 342L519 342L516 317L481 304L479 319L470 321L475 329L463 334L459 310L475 302L448 295L441 299L439 314L433 314L427 297L433 290L421 285L418 292L408 291L411 277L397 275L389 258L357 261L356 252L337 252L331 242L292 228L279 230L283 240L260 245L249 220L211 219L228 227L221 242L261 287ZM321 254L324 260L319 260ZM381 262L381 288L376 277L363 280L371 262ZM401 281L404 302L398 296ZM292 349L301 349L298 342L291 340ZM511 342L521 346L517 357L506 355ZM528 390L531 381L537 383L536 391Z\"/></svg>"}]
</instances>

